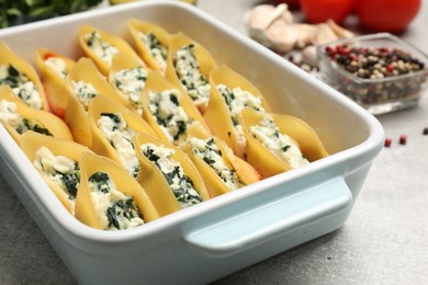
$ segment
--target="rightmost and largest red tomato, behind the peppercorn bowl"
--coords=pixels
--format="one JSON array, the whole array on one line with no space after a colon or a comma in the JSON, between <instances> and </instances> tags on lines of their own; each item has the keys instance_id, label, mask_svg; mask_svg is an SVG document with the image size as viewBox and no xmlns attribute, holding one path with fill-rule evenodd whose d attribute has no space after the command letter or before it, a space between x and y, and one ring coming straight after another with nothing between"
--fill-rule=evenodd
<instances>
[{"instance_id":1,"label":"rightmost and largest red tomato, behind the peppercorn bowl","mask_svg":"<svg viewBox=\"0 0 428 285\"><path fill-rule=\"evenodd\" d=\"M401 32L420 9L421 0L358 0L356 13L360 23L376 32Z\"/></svg>"}]
</instances>

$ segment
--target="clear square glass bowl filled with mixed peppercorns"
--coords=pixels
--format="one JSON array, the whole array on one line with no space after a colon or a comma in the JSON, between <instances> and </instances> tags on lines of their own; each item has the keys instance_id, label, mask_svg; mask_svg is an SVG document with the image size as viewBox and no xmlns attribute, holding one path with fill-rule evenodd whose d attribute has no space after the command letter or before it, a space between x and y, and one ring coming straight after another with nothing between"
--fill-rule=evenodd
<instances>
[{"instance_id":1,"label":"clear square glass bowl filled with mixed peppercorns","mask_svg":"<svg viewBox=\"0 0 428 285\"><path fill-rule=\"evenodd\" d=\"M328 45L324 52L330 62L319 61L323 79L373 114L385 104L416 104L427 81L425 62L398 46Z\"/></svg>"}]
</instances>

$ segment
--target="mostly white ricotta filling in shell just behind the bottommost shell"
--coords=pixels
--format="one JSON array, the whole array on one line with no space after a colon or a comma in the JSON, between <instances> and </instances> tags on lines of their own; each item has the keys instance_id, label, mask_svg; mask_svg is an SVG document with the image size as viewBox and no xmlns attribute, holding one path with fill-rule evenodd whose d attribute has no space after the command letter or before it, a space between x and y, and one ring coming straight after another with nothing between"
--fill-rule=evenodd
<instances>
[{"instance_id":1,"label":"mostly white ricotta filling in shell just behind the bottommost shell","mask_svg":"<svg viewBox=\"0 0 428 285\"><path fill-rule=\"evenodd\" d=\"M102 113L97 125L115 149L127 172L136 179L139 166L133 144L135 130L126 124L121 113Z\"/></svg>"}]
</instances>

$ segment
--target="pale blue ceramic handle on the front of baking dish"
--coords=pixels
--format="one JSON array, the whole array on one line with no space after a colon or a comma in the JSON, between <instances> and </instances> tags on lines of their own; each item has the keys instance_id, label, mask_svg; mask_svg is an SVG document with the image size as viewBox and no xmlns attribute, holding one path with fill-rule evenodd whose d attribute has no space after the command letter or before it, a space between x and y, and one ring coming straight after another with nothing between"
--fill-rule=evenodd
<instances>
[{"instance_id":1,"label":"pale blue ceramic handle on the front of baking dish","mask_svg":"<svg viewBox=\"0 0 428 285\"><path fill-rule=\"evenodd\" d=\"M352 194L343 178L335 178L214 224L207 223L206 227L190 229L183 238L203 254L230 255L346 212L351 204Z\"/></svg>"}]
</instances>

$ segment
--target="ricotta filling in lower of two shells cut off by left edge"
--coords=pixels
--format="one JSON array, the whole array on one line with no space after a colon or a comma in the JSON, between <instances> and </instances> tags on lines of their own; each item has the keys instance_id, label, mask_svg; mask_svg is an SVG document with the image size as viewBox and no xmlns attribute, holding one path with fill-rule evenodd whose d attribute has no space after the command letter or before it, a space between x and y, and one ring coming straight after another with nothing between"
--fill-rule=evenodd
<instances>
[{"instance_id":1,"label":"ricotta filling in lower of two shells cut off by left edge","mask_svg":"<svg viewBox=\"0 0 428 285\"><path fill-rule=\"evenodd\" d=\"M0 122L14 128L18 134L33 130L43 135L52 136L50 132L44 126L29 118L22 117L18 113L16 104L7 100L0 101Z\"/></svg>"}]
</instances>

